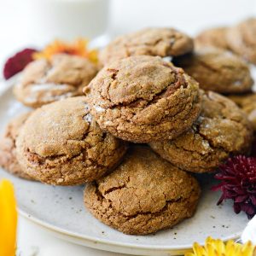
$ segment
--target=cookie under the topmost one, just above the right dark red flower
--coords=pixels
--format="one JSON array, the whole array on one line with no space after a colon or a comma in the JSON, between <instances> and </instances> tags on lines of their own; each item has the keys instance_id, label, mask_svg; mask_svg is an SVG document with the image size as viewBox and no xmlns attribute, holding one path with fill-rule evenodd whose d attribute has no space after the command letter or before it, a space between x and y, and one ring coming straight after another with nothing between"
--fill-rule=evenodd
<instances>
[{"instance_id":1,"label":"cookie under the topmost one, just above the right dark red flower","mask_svg":"<svg viewBox=\"0 0 256 256\"><path fill-rule=\"evenodd\" d=\"M245 113L227 97L209 91L203 93L201 115L189 131L150 146L185 171L212 172L230 155L247 154L252 140L252 126Z\"/></svg>"}]
</instances>

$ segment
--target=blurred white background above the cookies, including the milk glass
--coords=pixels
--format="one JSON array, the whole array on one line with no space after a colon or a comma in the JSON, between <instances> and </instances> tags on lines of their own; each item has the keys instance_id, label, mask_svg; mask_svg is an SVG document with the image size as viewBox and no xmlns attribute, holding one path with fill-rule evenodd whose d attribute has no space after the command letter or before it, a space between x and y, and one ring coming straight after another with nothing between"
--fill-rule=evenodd
<instances>
[{"instance_id":1,"label":"blurred white background above the cookies, including the milk glass","mask_svg":"<svg viewBox=\"0 0 256 256\"><path fill-rule=\"evenodd\" d=\"M7 56L54 38L108 38L145 26L174 26L190 35L256 14L254 0L0 0L0 66Z\"/></svg>"}]
</instances>

